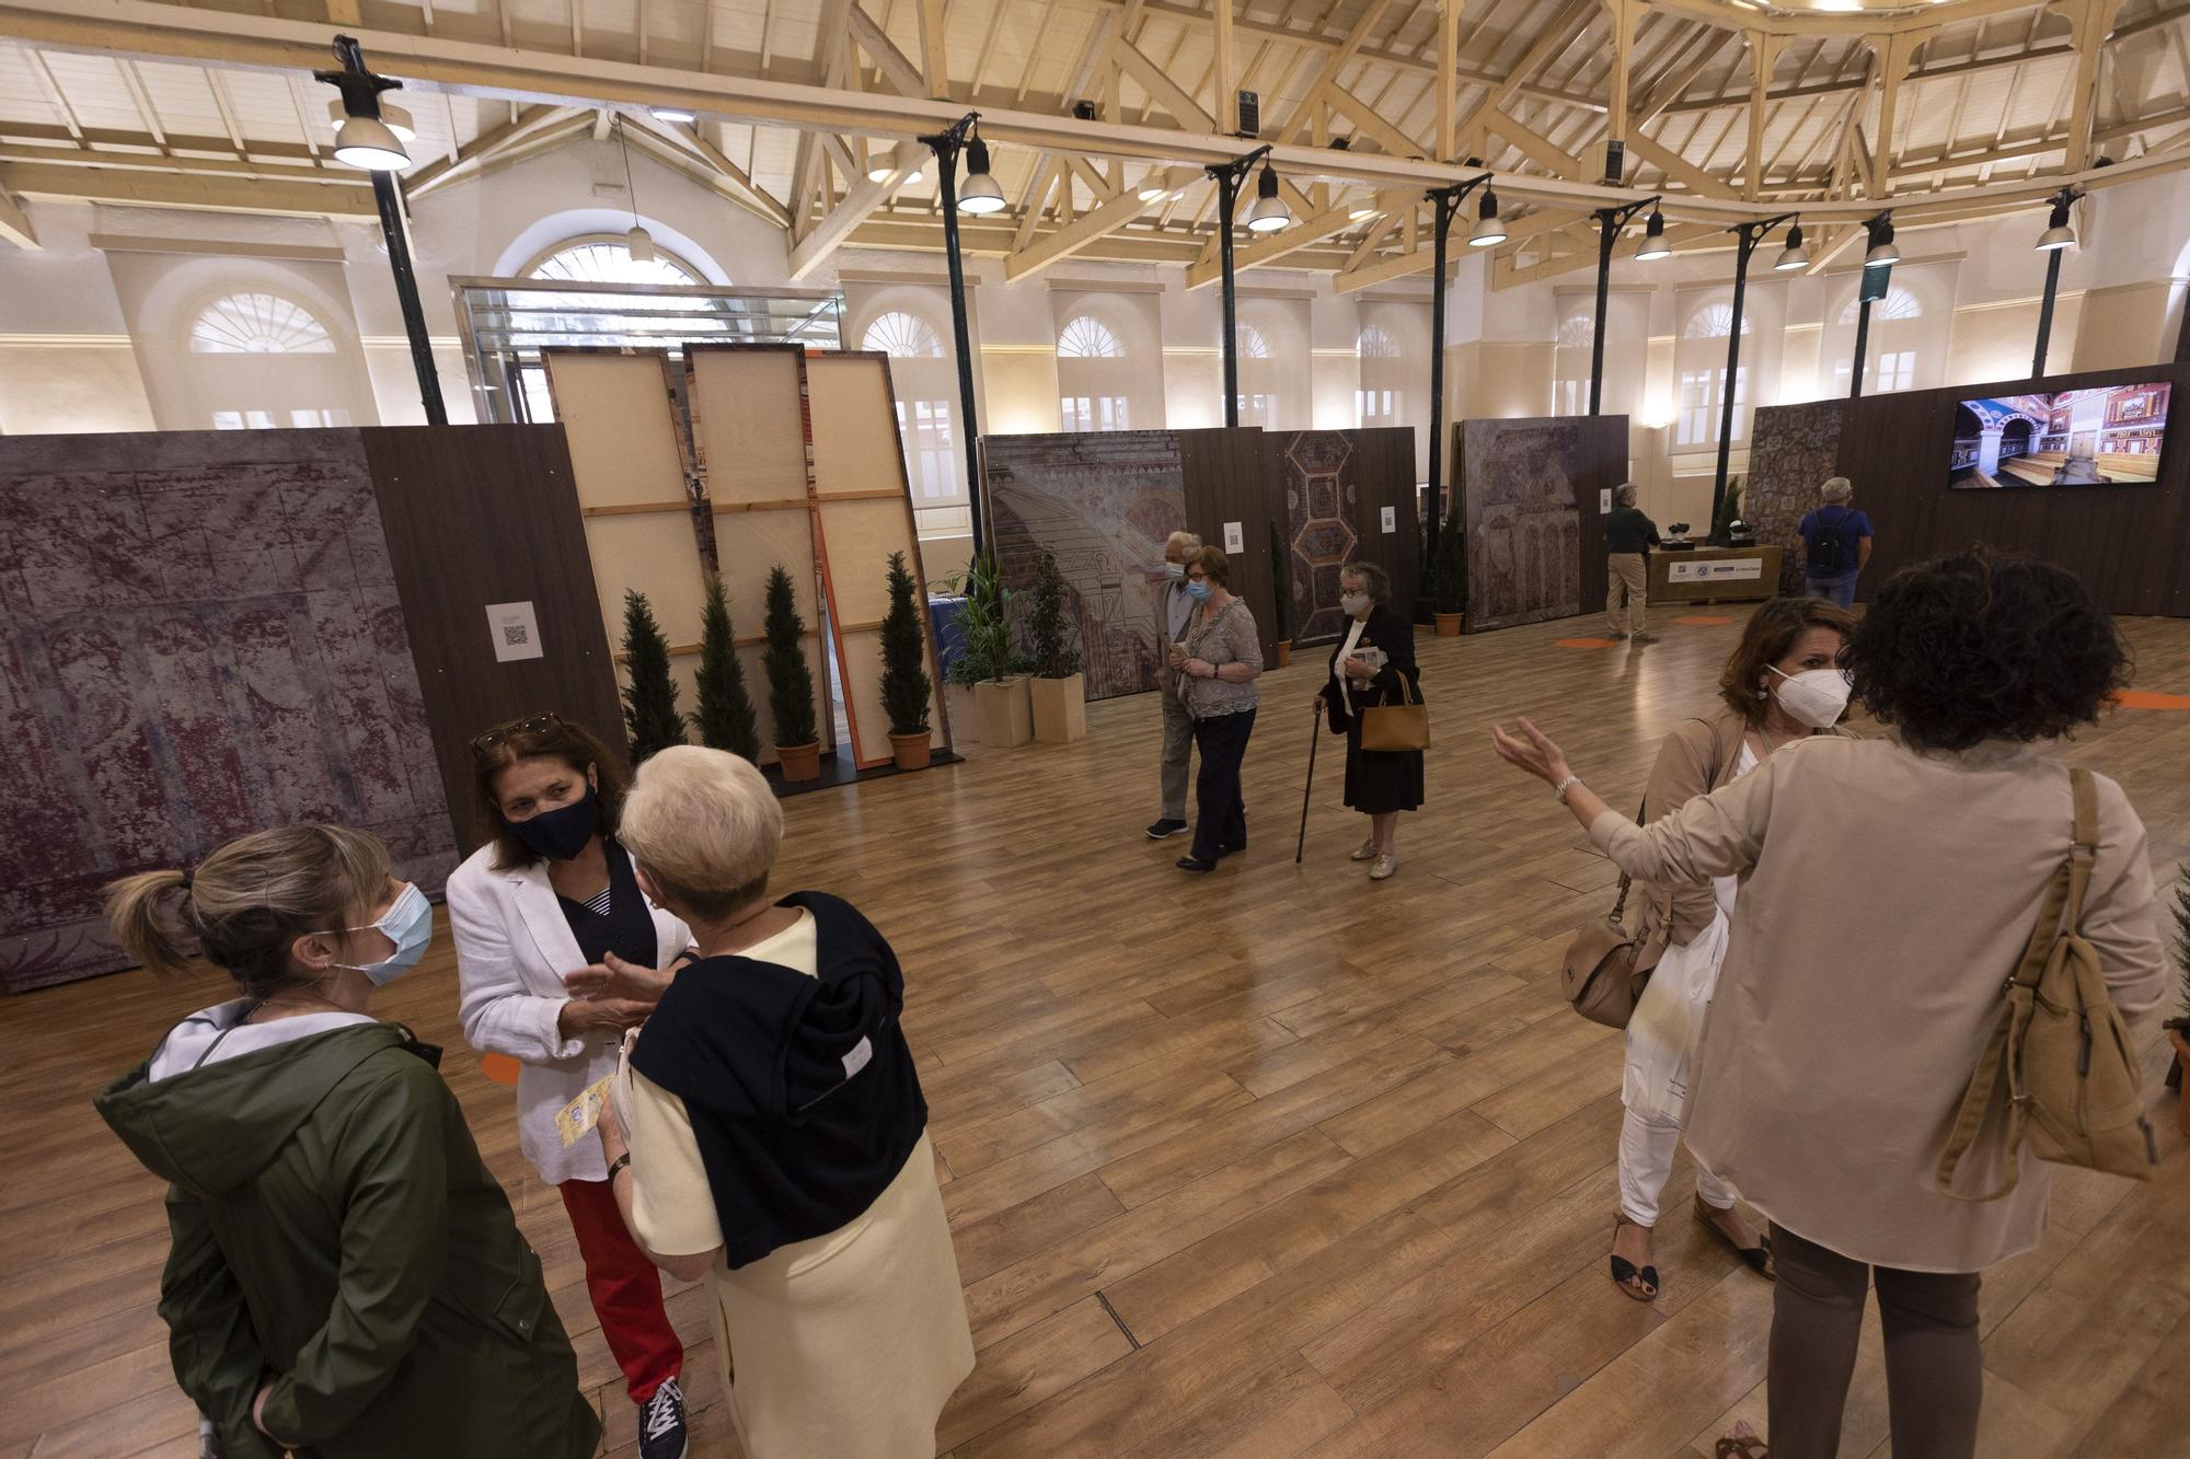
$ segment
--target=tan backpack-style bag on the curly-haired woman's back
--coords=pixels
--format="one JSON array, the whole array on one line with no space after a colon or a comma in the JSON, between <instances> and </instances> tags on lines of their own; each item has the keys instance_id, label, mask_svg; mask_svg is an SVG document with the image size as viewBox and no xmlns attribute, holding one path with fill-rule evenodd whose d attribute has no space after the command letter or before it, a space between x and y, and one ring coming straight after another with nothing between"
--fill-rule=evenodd
<instances>
[{"instance_id":1,"label":"tan backpack-style bag on the curly-haired woman's back","mask_svg":"<svg viewBox=\"0 0 2190 1459\"><path fill-rule=\"evenodd\" d=\"M2072 769L2076 841L2045 889L2039 924L2006 1003L1962 1091L1953 1130L1938 1157L1938 1192L1958 1200L1997 1200L2021 1179L2024 1141L2041 1161L2087 1165L2151 1181L2159 1163L2144 1122L2144 1076L2129 1025L2107 997L2107 977L2083 931L2083 894L2098 854L2098 791L2091 771ZM2006 1176L1999 1190L1962 1196L1949 1185L1995 1104L2006 1104Z\"/></svg>"}]
</instances>

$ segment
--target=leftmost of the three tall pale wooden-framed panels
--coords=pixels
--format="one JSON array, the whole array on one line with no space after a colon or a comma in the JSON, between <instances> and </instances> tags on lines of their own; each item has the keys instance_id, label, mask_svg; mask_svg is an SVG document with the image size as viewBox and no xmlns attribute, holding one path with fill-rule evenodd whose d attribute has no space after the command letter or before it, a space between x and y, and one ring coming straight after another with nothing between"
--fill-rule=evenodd
<instances>
[{"instance_id":1,"label":"leftmost of the three tall pale wooden-framed panels","mask_svg":"<svg viewBox=\"0 0 2190 1459\"><path fill-rule=\"evenodd\" d=\"M593 589L611 644L624 637L624 591L646 594L670 640L677 708L699 703L701 613L707 570L692 532L681 429L668 355L661 351L541 351L556 421L593 559Z\"/></svg>"}]
</instances>

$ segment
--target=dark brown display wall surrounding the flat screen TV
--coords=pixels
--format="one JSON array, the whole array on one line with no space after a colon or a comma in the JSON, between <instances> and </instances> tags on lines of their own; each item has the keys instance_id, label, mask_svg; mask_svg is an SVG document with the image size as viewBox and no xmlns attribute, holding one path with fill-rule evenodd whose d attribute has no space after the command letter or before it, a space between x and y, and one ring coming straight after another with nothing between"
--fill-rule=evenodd
<instances>
[{"instance_id":1,"label":"dark brown display wall surrounding the flat screen TV","mask_svg":"<svg viewBox=\"0 0 2190 1459\"><path fill-rule=\"evenodd\" d=\"M2168 381L2177 401L2190 399L2190 366L2153 364L1855 401L1840 434L1837 464L1840 475L1855 482L1855 506L1877 528L1857 591L1868 596L1899 567L1982 541L2067 567L2113 613L2190 618L2190 423L2175 423L2153 484L1947 486L1956 403L2140 381Z\"/></svg>"}]
</instances>

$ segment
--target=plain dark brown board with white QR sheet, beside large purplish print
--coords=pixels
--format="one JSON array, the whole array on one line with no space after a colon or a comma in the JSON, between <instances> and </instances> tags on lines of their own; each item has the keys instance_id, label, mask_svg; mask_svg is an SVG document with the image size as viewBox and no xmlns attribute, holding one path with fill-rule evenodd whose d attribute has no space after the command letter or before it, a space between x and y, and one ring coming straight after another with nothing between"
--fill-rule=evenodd
<instances>
[{"instance_id":1,"label":"plain dark brown board with white QR sheet, beside large purplish print","mask_svg":"<svg viewBox=\"0 0 2190 1459\"><path fill-rule=\"evenodd\" d=\"M561 425L403 425L357 434L372 467L456 839L471 852L491 835L475 806L475 734L552 710L624 749L615 662L600 622L569 449ZM528 635L537 633L537 642L526 646L537 646L537 657L495 657L506 629L486 609L508 602L530 605ZM504 653L510 648L504 642Z\"/></svg>"}]
</instances>

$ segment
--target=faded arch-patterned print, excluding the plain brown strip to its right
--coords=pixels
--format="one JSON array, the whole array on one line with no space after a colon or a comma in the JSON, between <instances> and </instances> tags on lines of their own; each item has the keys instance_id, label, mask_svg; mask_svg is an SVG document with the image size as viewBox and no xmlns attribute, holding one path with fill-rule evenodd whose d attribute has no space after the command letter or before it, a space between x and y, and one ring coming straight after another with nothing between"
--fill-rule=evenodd
<instances>
[{"instance_id":1,"label":"faded arch-patterned print, excluding the plain brown strip to its right","mask_svg":"<svg viewBox=\"0 0 2190 1459\"><path fill-rule=\"evenodd\" d=\"M1581 611L1583 462L1572 421L1467 421L1467 631Z\"/></svg>"}]
</instances>

